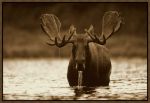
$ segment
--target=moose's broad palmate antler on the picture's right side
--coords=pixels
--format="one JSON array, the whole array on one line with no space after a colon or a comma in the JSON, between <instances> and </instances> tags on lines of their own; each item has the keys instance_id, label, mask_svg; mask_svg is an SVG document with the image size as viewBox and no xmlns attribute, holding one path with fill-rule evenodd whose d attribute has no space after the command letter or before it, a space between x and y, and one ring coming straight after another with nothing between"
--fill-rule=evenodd
<instances>
[{"instance_id":1,"label":"moose's broad palmate antler on the picture's right side","mask_svg":"<svg viewBox=\"0 0 150 103\"><path fill-rule=\"evenodd\" d=\"M106 44L106 40L108 40L116 31L119 30L121 23L122 23L122 18L120 17L117 11L106 12L103 16L101 35L96 35L94 33L93 25L91 25L88 30L85 29L85 32L91 38L89 42L95 42L101 45Z\"/></svg>"}]
</instances>

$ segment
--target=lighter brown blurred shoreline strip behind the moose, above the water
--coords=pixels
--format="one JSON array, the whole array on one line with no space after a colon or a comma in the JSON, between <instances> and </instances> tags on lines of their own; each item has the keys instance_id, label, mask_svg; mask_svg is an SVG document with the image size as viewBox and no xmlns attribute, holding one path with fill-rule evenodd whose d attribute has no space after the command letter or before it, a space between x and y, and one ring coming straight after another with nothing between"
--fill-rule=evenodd
<instances>
[{"instance_id":1,"label":"lighter brown blurred shoreline strip behind the moose, above the water","mask_svg":"<svg viewBox=\"0 0 150 103\"><path fill-rule=\"evenodd\" d=\"M9 35L9 36L8 36ZM3 33L3 58L66 58L71 56L72 44L58 48L48 46L48 37L39 31L25 31L13 27ZM147 38L118 32L107 41L111 57L147 58Z\"/></svg>"}]
</instances>

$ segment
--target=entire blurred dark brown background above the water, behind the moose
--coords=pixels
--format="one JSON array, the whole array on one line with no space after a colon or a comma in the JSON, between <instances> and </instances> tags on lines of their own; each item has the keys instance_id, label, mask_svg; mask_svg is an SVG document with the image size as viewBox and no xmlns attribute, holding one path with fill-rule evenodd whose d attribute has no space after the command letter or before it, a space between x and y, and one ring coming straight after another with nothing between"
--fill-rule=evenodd
<instances>
[{"instance_id":1,"label":"entire blurred dark brown background above the water, behind the moose","mask_svg":"<svg viewBox=\"0 0 150 103\"><path fill-rule=\"evenodd\" d=\"M74 24L83 33L93 24L101 33L103 14L112 10L125 22L107 42L112 56L147 57L147 3L3 3L3 56L68 57L71 45L58 49L45 44L40 15L55 14L62 31Z\"/></svg>"}]
</instances>

